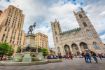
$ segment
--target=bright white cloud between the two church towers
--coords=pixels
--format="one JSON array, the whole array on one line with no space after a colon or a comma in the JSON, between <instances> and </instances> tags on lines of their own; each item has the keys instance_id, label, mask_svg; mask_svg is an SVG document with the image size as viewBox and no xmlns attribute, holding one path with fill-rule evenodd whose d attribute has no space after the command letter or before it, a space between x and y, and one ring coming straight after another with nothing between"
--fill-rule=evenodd
<instances>
[{"instance_id":1,"label":"bright white cloud between the two church towers","mask_svg":"<svg viewBox=\"0 0 105 70\"><path fill-rule=\"evenodd\" d=\"M65 5L53 5L49 8L52 16L50 20L54 20L55 18L58 19L63 31L76 28L78 27L78 24L73 14L73 10L76 8L77 6L74 6L71 3L67 3Z\"/></svg>"}]
</instances>

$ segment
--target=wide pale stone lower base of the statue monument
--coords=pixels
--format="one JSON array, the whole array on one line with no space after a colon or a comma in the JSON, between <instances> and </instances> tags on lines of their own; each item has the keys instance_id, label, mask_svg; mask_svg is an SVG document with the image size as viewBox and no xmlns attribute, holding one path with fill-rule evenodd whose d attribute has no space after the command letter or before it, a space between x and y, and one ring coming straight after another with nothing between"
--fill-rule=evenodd
<instances>
[{"instance_id":1,"label":"wide pale stone lower base of the statue monument","mask_svg":"<svg viewBox=\"0 0 105 70\"><path fill-rule=\"evenodd\" d=\"M36 52L23 52L16 53L13 57L14 62L33 62L33 61L44 61L42 53Z\"/></svg>"}]
</instances>

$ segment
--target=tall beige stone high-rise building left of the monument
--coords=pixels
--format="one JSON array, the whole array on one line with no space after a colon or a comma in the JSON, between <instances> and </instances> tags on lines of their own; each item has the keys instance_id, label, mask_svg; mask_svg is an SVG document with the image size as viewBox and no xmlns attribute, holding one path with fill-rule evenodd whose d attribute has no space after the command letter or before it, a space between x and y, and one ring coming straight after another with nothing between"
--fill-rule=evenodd
<instances>
[{"instance_id":1,"label":"tall beige stone high-rise building left of the monument","mask_svg":"<svg viewBox=\"0 0 105 70\"><path fill-rule=\"evenodd\" d=\"M0 15L0 42L7 42L16 48L25 44L25 33L22 30L24 15L22 10L12 5Z\"/></svg>"}]
</instances>

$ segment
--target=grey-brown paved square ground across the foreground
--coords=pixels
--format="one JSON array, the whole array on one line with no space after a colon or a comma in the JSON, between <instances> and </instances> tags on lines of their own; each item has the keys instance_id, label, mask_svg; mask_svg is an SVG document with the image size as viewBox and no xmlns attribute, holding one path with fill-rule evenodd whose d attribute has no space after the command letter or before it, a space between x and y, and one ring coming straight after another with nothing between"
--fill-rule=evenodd
<instances>
[{"instance_id":1,"label":"grey-brown paved square ground across the foreground","mask_svg":"<svg viewBox=\"0 0 105 70\"><path fill-rule=\"evenodd\" d=\"M32 66L0 66L0 70L105 70L105 59L96 64L86 64L84 59L64 60L60 63Z\"/></svg>"}]
</instances>

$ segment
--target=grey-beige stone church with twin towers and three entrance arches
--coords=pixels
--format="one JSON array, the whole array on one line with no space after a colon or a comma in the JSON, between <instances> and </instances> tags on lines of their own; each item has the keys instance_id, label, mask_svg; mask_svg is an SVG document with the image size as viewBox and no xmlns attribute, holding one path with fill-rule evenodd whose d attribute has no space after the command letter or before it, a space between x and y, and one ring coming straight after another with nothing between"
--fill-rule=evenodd
<instances>
[{"instance_id":1,"label":"grey-beige stone church with twin towers and three entrance arches","mask_svg":"<svg viewBox=\"0 0 105 70\"><path fill-rule=\"evenodd\" d=\"M51 22L56 54L66 55L72 53L78 55L85 50L103 53L104 44L93 27L91 21L81 9L74 12L79 28L62 32L59 21Z\"/></svg>"}]
</instances>

